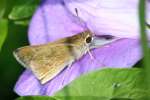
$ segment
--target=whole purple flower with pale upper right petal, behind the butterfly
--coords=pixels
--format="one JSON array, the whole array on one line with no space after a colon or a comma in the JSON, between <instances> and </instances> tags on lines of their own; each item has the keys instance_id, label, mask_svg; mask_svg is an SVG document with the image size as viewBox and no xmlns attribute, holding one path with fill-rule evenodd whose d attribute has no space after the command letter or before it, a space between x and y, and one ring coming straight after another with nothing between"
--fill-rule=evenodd
<instances>
[{"instance_id":1,"label":"whole purple flower with pale upper right petal, behind the butterfly","mask_svg":"<svg viewBox=\"0 0 150 100\"><path fill-rule=\"evenodd\" d=\"M24 95L53 95L72 80L86 72L103 67L131 67L142 57L139 42L138 0L43 0L29 27L29 41L33 44L52 42L85 30L79 18L97 35L121 37L119 41L85 55L71 68L41 85L31 71L26 70L15 86ZM147 2L147 5L149 3ZM75 8L78 9L76 17ZM147 6L147 11L149 6ZM150 13L147 12L147 23ZM149 30L147 30L149 32ZM150 34L148 34L150 37Z\"/></svg>"}]
</instances>

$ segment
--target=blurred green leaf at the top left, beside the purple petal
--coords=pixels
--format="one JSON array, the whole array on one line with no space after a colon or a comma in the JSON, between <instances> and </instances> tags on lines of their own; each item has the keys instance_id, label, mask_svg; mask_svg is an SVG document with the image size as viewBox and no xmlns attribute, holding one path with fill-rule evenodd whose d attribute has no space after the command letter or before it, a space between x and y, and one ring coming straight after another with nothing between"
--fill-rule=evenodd
<instances>
[{"instance_id":1,"label":"blurred green leaf at the top left, beside the purple petal","mask_svg":"<svg viewBox=\"0 0 150 100\"><path fill-rule=\"evenodd\" d=\"M20 20L31 17L39 5L40 0L16 0L15 2L16 4L10 12L9 18L12 20Z\"/></svg>"}]
</instances>

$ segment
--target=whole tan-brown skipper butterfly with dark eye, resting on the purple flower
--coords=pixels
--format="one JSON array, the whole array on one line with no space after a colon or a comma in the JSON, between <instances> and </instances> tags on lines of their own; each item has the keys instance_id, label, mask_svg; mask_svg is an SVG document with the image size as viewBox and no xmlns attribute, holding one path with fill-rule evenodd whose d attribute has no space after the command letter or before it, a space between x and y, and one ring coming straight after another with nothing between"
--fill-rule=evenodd
<instances>
[{"instance_id":1,"label":"whole tan-brown skipper butterfly with dark eye, resting on the purple flower","mask_svg":"<svg viewBox=\"0 0 150 100\"><path fill-rule=\"evenodd\" d=\"M113 41L92 37L90 31L85 31L51 43L18 48L14 51L14 56L25 68L31 70L42 84L45 84L65 67L80 59L89 49Z\"/></svg>"}]
</instances>

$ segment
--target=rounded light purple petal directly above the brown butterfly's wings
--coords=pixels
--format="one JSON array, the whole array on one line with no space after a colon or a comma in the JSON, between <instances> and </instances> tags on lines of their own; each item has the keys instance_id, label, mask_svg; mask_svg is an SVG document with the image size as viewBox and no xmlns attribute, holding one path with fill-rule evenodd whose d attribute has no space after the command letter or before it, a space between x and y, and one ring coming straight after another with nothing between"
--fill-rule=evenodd
<instances>
[{"instance_id":1,"label":"rounded light purple petal directly above the brown butterfly's wings","mask_svg":"<svg viewBox=\"0 0 150 100\"><path fill-rule=\"evenodd\" d=\"M46 0L37 9L29 27L31 44L47 43L84 30L78 18L66 10L62 1Z\"/></svg>"}]
</instances>

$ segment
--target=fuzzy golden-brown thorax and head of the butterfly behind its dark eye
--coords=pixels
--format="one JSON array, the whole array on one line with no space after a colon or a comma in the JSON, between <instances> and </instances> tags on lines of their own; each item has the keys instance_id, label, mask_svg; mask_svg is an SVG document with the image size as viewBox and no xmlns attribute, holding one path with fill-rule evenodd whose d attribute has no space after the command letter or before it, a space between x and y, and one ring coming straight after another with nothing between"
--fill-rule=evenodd
<instances>
[{"instance_id":1,"label":"fuzzy golden-brown thorax and head of the butterfly behind its dark eye","mask_svg":"<svg viewBox=\"0 0 150 100\"><path fill-rule=\"evenodd\" d=\"M68 51L70 52L71 56L73 56L75 59L79 59L85 53L87 53L89 49L89 45L86 43L86 38L89 36L92 36L92 33L89 30L87 30L72 37L58 40L54 43L66 44L66 48L68 48Z\"/></svg>"}]
</instances>

